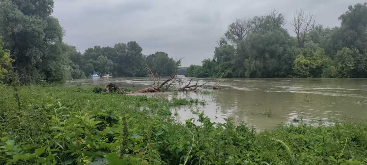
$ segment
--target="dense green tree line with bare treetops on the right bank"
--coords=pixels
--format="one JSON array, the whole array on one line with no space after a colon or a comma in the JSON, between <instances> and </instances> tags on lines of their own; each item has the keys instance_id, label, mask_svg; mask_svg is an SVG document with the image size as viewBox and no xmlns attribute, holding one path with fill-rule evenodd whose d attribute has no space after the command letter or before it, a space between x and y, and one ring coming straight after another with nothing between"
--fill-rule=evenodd
<instances>
[{"instance_id":1,"label":"dense green tree line with bare treetops on the right bank","mask_svg":"<svg viewBox=\"0 0 367 165\"><path fill-rule=\"evenodd\" d=\"M191 65L190 77L367 77L366 3L349 6L340 27L314 25L315 16L299 10L286 29L284 15L273 10L237 19L217 41L213 59Z\"/></svg>"}]
</instances>

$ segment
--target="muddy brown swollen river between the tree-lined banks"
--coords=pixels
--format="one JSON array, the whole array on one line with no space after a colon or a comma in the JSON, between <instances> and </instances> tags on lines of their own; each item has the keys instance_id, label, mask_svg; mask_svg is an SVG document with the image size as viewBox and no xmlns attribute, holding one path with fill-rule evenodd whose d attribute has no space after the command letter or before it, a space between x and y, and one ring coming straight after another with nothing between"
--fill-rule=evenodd
<instances>
[{"instance_id":1,"label":"muddy brown swollen river between the tree-lined banks","mask_svg":"<svg viewBox=\"0 0 367 165\"><path fill-rule=\"evenodd\" d=\"M209 78L196 78L199 83ZM104 85L113 82L119 87L142 89L152 85L148 77L90 78L71 80L67 84ZM208 85L215 83L213 80ZM219 85L221 90L200 94L178 93L178 98L206 100L199 109L215 122L246 122L260 131L271 129L281 123L326 122L330 119L355 122L367 119L367 79L295 79L295 78L227 78ZM171 93L154 95L171 99ZM268 112L268 113L266 113ZM190 107L172 109L177 120L196 118ZM268 114L268 115L266 115Z\"/></svg>"}]
</instances>

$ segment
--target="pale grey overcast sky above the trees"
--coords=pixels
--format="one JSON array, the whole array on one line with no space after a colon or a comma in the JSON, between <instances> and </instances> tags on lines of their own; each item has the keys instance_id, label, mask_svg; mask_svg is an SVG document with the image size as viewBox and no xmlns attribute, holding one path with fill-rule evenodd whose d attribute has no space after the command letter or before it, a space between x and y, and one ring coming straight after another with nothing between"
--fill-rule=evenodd
<instances>
[{"instance_id":1,"label":"pale grey overcast sky above the trees","mask_svg":"<svg viewBox=\"0 0 367 165\"><path fill-rule=\"evenodd\" d=\"M284 13L288 32L299 8L316 16L316 24L339 26L339 15L361 0L55 0L54 16L64 41L80 52L94 45L137 41L143 54L164 51L182 66L212 58L217 41L236 18Z\"/></svg>"}]
</instances>

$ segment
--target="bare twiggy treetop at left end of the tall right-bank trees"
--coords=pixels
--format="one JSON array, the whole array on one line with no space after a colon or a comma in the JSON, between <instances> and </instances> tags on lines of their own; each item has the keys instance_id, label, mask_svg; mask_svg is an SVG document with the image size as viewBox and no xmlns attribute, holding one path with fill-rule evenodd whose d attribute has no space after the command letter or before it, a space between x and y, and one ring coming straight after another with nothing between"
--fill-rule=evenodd
<instances>
[{"instance_id":1,"label":"bare twiggy treetop at left end of the tall right-bank trees","mask_svg":"<svg viewBox=\"0 0 367 165\"><path fill-rule=\"evenodd\" d=\"M225 36L227 40L237 42L243 40L250 31L250 20L237 18L236 22L233 22L228 26L228 31Z\"/></svg>"}]
</instances>

